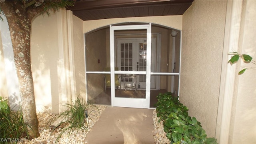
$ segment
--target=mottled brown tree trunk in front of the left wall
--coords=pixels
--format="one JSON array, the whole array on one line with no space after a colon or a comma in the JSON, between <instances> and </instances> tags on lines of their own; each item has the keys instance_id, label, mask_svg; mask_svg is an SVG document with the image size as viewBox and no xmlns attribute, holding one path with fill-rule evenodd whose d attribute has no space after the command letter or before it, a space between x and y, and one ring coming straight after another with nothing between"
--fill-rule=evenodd
<instances>
[{"instance_id":1,"label":"mottled brown tree trunk in front of the left wall","mask_svg":"<svg viewBox=\"0 0 256 144\"><path fill-rule=\"evenodd\" d=\"M20 84L20 98L24 123L27 125L29 138L40 136L34 97L34 84L30 63L31 15L15 2L1 2L1 9L6 15L14 52L14 62Z\"/></svg>"}]
</instances>

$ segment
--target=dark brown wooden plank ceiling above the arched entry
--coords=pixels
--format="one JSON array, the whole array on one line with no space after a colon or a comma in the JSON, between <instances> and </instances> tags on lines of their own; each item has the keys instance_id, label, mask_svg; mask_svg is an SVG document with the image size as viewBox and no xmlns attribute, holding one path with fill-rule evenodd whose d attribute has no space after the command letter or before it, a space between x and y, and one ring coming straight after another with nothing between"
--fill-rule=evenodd
<instances>
[{"instance_id":1,"label":"dark brown wooden plank ceiling above the arched entry","mask_svg":"<svg viewBox=\"0 0 256 144\"><path fill-rule=\"evenodd\" d=\"M82 20L182 15L193 0L78 0L71 10Z\"/></svg>"}]
</instances>

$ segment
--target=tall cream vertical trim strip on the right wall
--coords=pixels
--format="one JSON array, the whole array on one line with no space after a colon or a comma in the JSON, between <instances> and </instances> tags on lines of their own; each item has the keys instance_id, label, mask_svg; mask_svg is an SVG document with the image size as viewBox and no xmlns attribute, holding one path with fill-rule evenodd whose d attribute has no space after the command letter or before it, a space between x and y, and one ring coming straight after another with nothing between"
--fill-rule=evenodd
<instances>
[{"instance_id":1,"label":"tall cream vertical trim strip on the right wall","mask_svg":"<svg viewBox=\"0 0 256 144\"><path fill-rule=\"evenodd\" d=\"M215 138L219 144L228 144L236 67L228 64L228 52L238 51L243 1L227 1L224 33L220 95Z\"/></svg>"}]
</instances>

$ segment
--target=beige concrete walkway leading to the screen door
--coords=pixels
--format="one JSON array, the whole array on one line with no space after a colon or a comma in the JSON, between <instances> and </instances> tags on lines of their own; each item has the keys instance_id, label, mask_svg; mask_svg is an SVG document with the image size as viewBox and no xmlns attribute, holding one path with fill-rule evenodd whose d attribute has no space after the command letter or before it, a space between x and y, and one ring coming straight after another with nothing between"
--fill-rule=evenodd
<instances>
[{"instance_id":1,"label":"beige concrete walkway leading to the screen door","mask_svg":"<svg viewBox=\"0 0 256 144\"><path fill-rule=\"evenodd\" d=\"M156 144L153 109L107 107L86 136L87 144Z\"/></svg>"}]
</instances>

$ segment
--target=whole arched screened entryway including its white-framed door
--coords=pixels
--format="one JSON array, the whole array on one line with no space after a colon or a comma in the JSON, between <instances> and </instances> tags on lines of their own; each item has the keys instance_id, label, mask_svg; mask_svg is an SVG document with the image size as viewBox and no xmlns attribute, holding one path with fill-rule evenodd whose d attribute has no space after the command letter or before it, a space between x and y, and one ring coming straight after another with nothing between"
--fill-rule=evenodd
<instances>
[{"instance_id":1,"label":"whole arched screened entryway including its white-framed door","mask_svg":"<svg viewBox=\"0 0 256 144\"><path fill-rule=\"evenodd\" d=\"M173 30L176 36L172 36ZM121 23L84 36L88 100L154 108L159 92L178 96L180 30L149 23ZM105 84L108 78L112 84Z\"/></svg>"}]
</instances>

